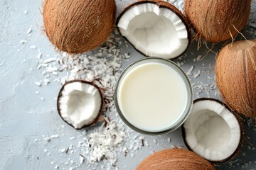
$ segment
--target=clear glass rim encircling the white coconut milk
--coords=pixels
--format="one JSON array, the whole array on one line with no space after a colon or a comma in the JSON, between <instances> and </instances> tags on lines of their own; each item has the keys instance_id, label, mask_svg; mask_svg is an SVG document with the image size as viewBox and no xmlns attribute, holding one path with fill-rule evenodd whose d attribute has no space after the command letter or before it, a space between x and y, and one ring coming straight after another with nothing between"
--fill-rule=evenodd
<instances>
[{"instance_id":1,"label":"clear glass rim encircling the white coconut milk","mask_svg":"<svg viewBox=\"0 0 256 170\"><path fill-rule=\"evenodd\" d=\"M118 100L118 93L119 93L119 85L122 82L122 79L127 75L128 72L132 71L135 67L141 65L141 64L146 64L150 62L159 62L161 64L166 64L167 66L171 67L174 69L183 79L187 92L188 92L188 100L186 103L186 108L183 111L182 115L178 120L174 123L174 125L170 125L168 128L165 128L163 130L156 130L156 131L150 131L150 130L142 130L140 128L137 128L135 125L132 125L132 123L127 120L127 118L124 117L121 108L119 108L119 100ZM162 135L166 134L168 132L172 132L179 128L188 118L188 115L191 113L191 109L193 106L193 88L191 86L191 81L188 79L186 73L179 67L175 62L171 60L167 60L165 58L161 57L148 57L144 59L137 60L135 62L132 62L132 64L129 64L120 74L119 79L117 80L117 84L114 89L114 105L117 108L117 113L119 117L122 119L122 121L132 130L142 133L144 135Z\"/></svg>"}]
</instances>

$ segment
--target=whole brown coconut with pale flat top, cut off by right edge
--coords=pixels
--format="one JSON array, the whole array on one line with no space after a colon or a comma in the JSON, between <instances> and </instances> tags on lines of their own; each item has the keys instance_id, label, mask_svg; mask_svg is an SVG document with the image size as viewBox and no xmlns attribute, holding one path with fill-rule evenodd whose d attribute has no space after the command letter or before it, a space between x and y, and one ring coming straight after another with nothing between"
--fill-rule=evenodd
<instances>
[{"instance_id":1,"label":"whole brown coconut with pale flat top, cut off by right edge","mask_svg":"<svg viewBox=\"0 0 256 170\"><path fill-rule=\"evenodd\" d=\"M256 40L233 42L220 51L216 81L230 108L256 118Z\"/></svg>"}]
</instances>

